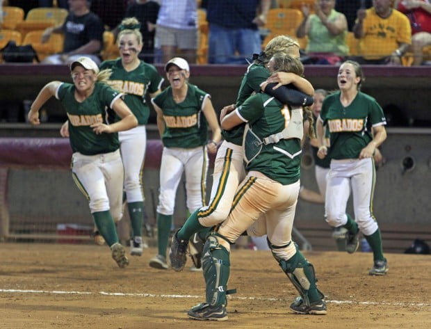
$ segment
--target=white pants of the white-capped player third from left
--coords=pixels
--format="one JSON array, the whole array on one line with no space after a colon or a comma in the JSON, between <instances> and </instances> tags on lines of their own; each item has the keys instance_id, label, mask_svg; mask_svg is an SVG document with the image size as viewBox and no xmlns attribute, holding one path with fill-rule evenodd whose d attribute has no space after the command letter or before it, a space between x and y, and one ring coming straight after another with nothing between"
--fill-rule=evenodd
<instances>
[{"instance_id":1,"label":"white pants of the white-capped player third from left","mask_svg":"<svg viewBox=\"0 0 431 329\"><path fill-rule=\"evenodd\" d=\"M183 172L186 177L186 203L190 214L205 202L208 153L205 146L193 149L163 147L160 168L160 193L157 212L174 214L175 197Z\"/></svg>"}]
</instances>

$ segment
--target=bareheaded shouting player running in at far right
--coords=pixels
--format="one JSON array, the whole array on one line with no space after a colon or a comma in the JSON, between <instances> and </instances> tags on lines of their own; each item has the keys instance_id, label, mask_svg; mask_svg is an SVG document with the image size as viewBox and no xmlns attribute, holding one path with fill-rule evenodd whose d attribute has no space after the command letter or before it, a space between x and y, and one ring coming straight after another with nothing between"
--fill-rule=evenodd
<instances>
[{"instance_id":1,"label":"bareheaded shouting player running in at far right","mask_svg":"<svg viewBox=\"0 0 431 329\"><path fill-rule=\"evenodd\" d=\"M373 154L387 138L386 120L379 104L360 92L364 74L355 61L345 61L337 77L340 91L325 98L316 125L318 157L331 159L327 176L325 211L332 227L345 227L345 250L359 247L359 232L373 250L374 266L370 275L384 275L389 270L383 255L382 237L373 215L375 166ZM330 131L331 147L323 143L324 129ZM345 209L353 195L355 220Z\"/></svg>"}]
</instances>

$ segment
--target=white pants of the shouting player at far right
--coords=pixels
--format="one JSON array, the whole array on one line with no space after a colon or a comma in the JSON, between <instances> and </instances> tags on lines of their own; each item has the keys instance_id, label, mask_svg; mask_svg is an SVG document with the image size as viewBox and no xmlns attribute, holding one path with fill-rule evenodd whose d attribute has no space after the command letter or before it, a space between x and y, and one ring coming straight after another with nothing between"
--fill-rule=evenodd
<instances>
[{"instance_id":1,"label":"white pants of the shouting player at far right","mask_svg":"<svg viewBox=\"0 0 431 329\"><path fill-rule=\"evenodd\" d=\"M365 235L373 234L378 228L372 209L374 186L375 167L372 158L333 159L327 175L325 198L327 223L333 227L347 223L345 209L351 187L355 221L359 230Z\"/></svg>"}]
</instances>

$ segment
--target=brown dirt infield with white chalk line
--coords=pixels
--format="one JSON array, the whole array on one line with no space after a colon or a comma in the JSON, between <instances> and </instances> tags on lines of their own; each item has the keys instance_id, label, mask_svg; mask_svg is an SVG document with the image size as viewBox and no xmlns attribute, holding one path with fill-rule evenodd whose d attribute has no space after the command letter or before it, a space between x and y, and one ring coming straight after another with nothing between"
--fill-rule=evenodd
<instances>
[{"instance_id":1,"label":"brown dirt infield with white chalk line","mask_svg":"<svg viewBox=\"0 0 431 329\"><path fill-rule=\"evenodd\" d=\"M0 328L431 328L428 255L387 254L390 270L369 276L372 255L304 252L326 294L328 314L293 314L293 286L268 251L233 250L229 320L193 321L202 273L149 268L154 248L120 269L106 246L0 243ZM190 260L188 261L190 263Z\"/></svg>"}]
</instances>

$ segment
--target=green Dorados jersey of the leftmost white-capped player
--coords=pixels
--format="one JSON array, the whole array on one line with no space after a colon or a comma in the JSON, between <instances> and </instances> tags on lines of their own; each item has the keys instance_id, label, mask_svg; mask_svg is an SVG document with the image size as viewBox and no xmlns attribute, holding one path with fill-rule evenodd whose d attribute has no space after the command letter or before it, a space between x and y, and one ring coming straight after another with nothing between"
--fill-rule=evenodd
<instances>
[{"instance_id":1,"label":"green Dorados jersey of the leftmost white-capped player","mask_svg":"<svg viewBox=\"0 0 431 329\"><path fill-rule=\"evenodd\" d=\"M96 134L90 125L115 122L115 112L111 108L122 94L100 82L95 83L92 94L83 102L76 101L74 93L75 86L72 83L62 83L56 93L67 112L72 151L95 155L117 150L120 147L118 133Z\"/></svg>"}]
</instances>

